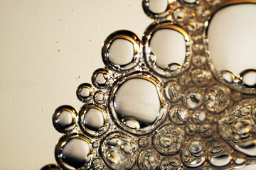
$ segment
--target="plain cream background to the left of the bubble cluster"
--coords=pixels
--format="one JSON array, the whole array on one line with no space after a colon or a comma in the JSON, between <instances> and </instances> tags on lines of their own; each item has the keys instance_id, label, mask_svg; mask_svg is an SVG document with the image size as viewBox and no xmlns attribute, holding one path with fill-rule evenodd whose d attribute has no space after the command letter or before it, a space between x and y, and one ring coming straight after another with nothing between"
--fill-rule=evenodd
<instances>
[{"instance_id":1,"label":"plain cream background to the left of the bubble cluster","mask_svg":"<svg viewBox=\"0 0 256 170\"><path fill-rule=\"evenodd\" d=\"M0 169L55 163L55 108L82 106L75 91L104 67L107 35L149 23L140 0L0 0Z\"/></svg>"}]
</instances>

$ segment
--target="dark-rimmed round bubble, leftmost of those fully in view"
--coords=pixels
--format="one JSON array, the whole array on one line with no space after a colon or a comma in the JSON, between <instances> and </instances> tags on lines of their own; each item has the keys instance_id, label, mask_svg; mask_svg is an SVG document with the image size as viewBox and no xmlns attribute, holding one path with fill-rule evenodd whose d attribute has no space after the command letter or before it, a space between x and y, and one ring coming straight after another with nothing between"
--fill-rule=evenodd
<instances>
[{"instance_id":1,"label":"dark-rimmed round bubble, leftmost of those fully in view","mask_svg":"<svg viewBox=\"0 0 256 170\"><path fill-rule=\"evenodd\" d=\"M58 132L71 132L77 122L77 111L75 108L68 105L58 107L53 114L53 125Z\"/></svg>"}]
</instances>

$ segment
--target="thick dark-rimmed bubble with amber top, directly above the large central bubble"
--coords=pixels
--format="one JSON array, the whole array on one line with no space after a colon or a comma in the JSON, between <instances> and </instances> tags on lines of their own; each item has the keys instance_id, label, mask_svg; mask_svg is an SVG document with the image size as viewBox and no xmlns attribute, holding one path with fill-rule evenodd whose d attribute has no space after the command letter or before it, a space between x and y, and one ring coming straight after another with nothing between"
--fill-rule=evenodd
<instances>
[{"instance_id":1,"label":"thick dark-rimmed bubble with amber top, directly above the large central bubble","mask_svg":"<svg viewBox=\"0 0 256 170\"><path fill-rule=\"evenodd\" d=\"M141 40L129 30L117 30L110 34L102 47L102 60L117 72L134 68L141 55Z\"/></svg>"}]
</instances>

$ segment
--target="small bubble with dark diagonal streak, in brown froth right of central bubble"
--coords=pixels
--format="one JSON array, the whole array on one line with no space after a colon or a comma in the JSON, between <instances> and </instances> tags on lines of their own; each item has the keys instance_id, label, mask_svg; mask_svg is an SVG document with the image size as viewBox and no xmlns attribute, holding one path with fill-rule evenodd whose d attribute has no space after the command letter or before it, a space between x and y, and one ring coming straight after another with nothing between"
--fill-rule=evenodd
<instances>
[{"instance_id":1,"label":"small bubble with dark diagonal streak, in brown froth right of central bubble","mask_svg":"<svg viewBox=\"0 0 256 170\"><path fill-rule=\"evenodd\" d=\"M184 96L184 103L190 109L198 108L202 103L202 92L197 89L188 89Z\"/></svg>"}]
</instances>

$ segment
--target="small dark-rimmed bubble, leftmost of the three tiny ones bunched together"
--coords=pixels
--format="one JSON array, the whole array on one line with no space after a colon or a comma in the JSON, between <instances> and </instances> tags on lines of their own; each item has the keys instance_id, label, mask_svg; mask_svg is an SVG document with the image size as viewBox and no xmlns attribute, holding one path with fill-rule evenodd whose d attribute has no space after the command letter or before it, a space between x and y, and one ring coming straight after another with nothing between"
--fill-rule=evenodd
<instances>
[{"instance_id":1,"label":"small dark-rimmed bubble, leftmost of the three tiny ones bunched together","mask_svg":"<svg viewBox=\"0 0 256 170\"><path fill-rule=\"evenodd\" d=\"M78 99L82 102L89 101L92 98L92 93L92 84L87 83L78 86L78 89L76 91Z\"/></svg>"}]
</instances>

